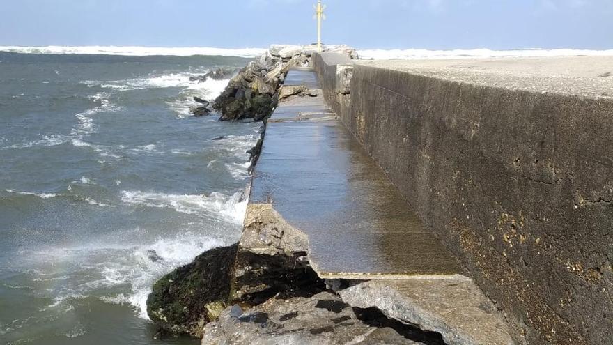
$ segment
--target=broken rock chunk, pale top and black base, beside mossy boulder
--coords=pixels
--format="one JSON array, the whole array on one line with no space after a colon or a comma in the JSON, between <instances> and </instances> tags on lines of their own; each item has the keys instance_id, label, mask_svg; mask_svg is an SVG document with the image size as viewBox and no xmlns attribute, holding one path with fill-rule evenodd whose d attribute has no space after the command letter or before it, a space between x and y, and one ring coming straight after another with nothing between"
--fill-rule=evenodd
<instances>
[{"instance_id":1,"label":"broken rock chunk, pale top and black base, beside mossy boulder","mask_svg":"<svg viewBox=\"0 0 613 345\"><path fill-rule=\"evenodd\" d=\"M233 278L233 300L260 303L282 293L309 295L325 290L310 268L308 240L270 204L249 204Z\"/></svg>"}]
</instances>

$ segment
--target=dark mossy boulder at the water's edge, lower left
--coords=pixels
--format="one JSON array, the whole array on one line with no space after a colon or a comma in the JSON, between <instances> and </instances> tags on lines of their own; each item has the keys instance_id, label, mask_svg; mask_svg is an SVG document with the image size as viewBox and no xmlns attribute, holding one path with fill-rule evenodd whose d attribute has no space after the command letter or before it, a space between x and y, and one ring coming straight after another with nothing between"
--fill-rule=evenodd
<instances>
[{"instance_id":1,"label":"dark mossy boulder at the water's edge, lower left","mask_svg":"<svg viewBox=\"0 0 613 345\"><path fill-rule=\"evenodd\" d=\"M168 332L200 337L205 323L217 319L228 302L237 249L208 250L158 280L147 298L151 321Z\"/></svg>"}]
</instances>

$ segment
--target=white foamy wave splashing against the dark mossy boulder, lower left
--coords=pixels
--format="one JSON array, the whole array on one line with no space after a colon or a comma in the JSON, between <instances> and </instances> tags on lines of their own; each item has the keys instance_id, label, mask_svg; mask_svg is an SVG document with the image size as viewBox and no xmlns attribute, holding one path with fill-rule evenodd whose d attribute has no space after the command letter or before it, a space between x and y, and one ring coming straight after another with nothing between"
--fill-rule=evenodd
<instances>
[{"instance_id":1,"label":"white foamy wave splashing against the dark mossy boulder, lower left","mask_svg":"<svg viewBox=\"0 0 613 345\"><path fill-rule=\"evenodd\" d=\"M102 302L130 305L142 319L148 319L147 297L157 279L178 266L194 260L205 250L225 243L200 233L180 231L171 238L157 238L143 245L47 248L33 253L39 259L54 263L79 264L68 273L63 284L49 291L52 302L41 311L68 312L75 300L98 298ZM33 272L33 281L48 282L49 274ZM88 277L90 279L80 279ZM93 278L93 279L91 279ZM112 293L118 286L128 286L128 292Z\"/></svg>"}]
</instances>

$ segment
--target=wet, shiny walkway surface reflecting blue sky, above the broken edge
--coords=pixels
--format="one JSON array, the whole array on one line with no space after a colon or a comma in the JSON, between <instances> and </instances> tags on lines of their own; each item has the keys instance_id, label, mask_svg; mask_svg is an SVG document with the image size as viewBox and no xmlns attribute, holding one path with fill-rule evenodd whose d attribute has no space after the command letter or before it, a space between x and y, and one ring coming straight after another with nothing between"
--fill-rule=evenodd
<instances>
[{"instance_id":1,"label":"wet, shiny walkway surface reflecting blue sky, above the broken edge","mask_svg":"<svg viewBox=\"0 0 613 345\"><path fill-rule=\"evenodd\" d=\"M291 70L285 85L318 87ZM272 204L307 233L320 277L389 279L460 273L383 171L326 107L323 97L282 102L267 124L251 204Z\"/></svg>"}]
</instances>

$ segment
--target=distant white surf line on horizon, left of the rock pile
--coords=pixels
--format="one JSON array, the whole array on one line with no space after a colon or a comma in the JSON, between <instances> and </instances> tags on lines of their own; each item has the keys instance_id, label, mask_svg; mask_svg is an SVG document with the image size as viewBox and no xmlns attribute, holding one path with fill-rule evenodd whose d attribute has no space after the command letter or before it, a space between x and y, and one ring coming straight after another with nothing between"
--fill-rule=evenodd
<instances>
[{"instance_id":1,"label":"distant white surf line on horizon, left of the rock pile","mask_svg":"<svg viewBox=\"0 0 613 345\"><path fill-rule=\"evenodd\" d=\"M45 47L0 46L1 52L25 54L99 54L99 55L125 55L125 56L194 56L218 55L254 57L266 52L264 48L226 49L215 47L117 47L113 45L92 45L72 47L49 45Z\"/></svg>"}]
</instances>

